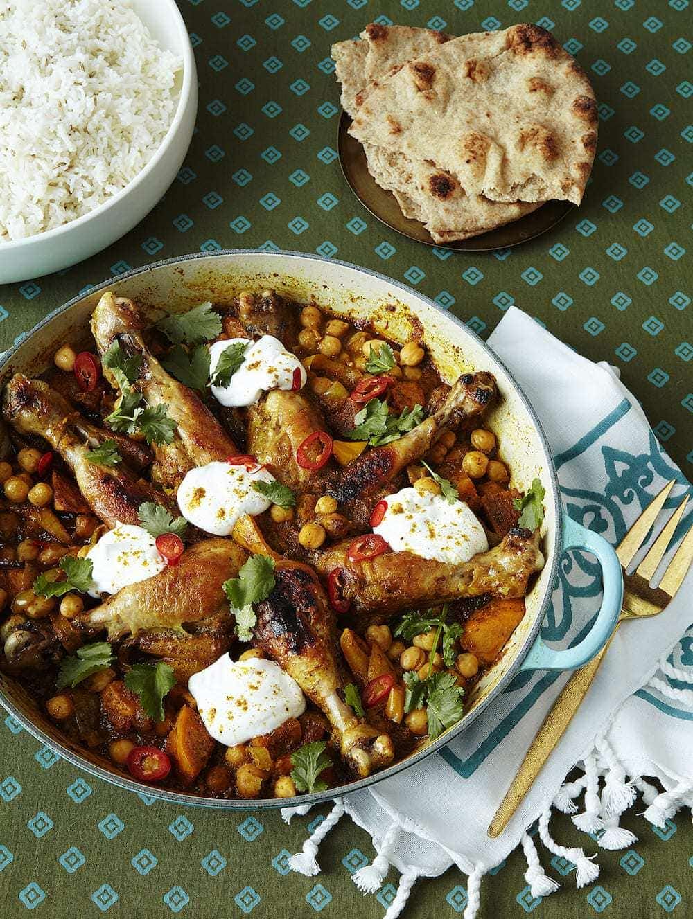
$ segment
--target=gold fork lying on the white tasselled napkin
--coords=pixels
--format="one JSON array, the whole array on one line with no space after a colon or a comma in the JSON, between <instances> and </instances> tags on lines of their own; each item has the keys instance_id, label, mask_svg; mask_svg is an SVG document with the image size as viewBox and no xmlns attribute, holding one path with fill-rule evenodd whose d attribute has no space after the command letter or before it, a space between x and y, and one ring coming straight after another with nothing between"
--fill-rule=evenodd
<instances>
[{"instance_id":1,"label":"gold fork lying on the white tasselled napkin","mask_svg":"<svg viewBox=\"0 0 693 919\"><path fill-rule=\"evenodd\" d=\"M626 568L631 564L636 552L641 549L675 482L675 479L667 482L662 491L653 498L652 503L645 508L641 516L638 517L621 540L616 554L619 556L619 562L623 568L623 606L616 626L611 633L611 638L596 657L580 670L575 671L574 675L563 686L560 696L554 702L553 708L546 716L539 732L537 732L532 741L527 755L522 761L516 777L513 779L512 785L507 789L506 797L501 802L498 810L495 811L494 819L488 828L488 834L492 839L495 839L496 836L503 832L508 821L517 811L520 802L531 788L534 779L540 774L541 767L549 758L551 751L561 740L575 712L580 707L580 703L585 698L585 694L595 678L599 664L601 664L608 645L616 634L620 623L625 619L644 618L661 613L683 583L687 570L691 562L693 562L693 528L690 528L686 537L682 539L659 584L656 587L650 587L649 585L683 516L688 496L676 507L674 514L669 518L657 539L654 540L652 548L642 559L636 571L632 574L626 573Z\"/></svg>"}]
</instances>

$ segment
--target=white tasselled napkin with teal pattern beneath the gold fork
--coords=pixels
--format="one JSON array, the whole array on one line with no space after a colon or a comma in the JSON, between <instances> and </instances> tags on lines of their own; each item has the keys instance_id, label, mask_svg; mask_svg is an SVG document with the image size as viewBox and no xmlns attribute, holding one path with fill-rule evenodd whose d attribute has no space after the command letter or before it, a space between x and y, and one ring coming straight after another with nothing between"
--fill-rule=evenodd
<instances>
[{"instance_id":1,"label":"white tasselled napkin with teal pattern beneath the gold fork","mask_svg":"<svg viewBox=\"0 0 693 919\"><path fill-rule=\"evenodd\" d=\"M665 482L676 479L662 519L687 494L688 482L660 447L614 369L580 357L515 307L506 312L489 345L540 417L569 516L617 544ZM693 507L682 521L679 538L691 526ZM640 555L636 562L639 559ZM560 586L542 629L545 641L565 643L585 625L598 606L599 582L598 566L584 553L565 557ZM584 792L574 822L586 833L599 834L596 844L594 835L592 840L585 837L592 853L596 845L622 848L635 841L619 827L619 814L637 793L647 807L645 817L657 825L679 807L693 804L693 691L686 688L693 683L693 641L690 636L680 641L693 620L686 599L691 586L689 573L664 613L626 623L619 630L581 709L497 839L489 839L488 824L569 675L518 675L441 753L372 789L336 800L303 852L292 857L292 868L317 873L317 845L347 811L371 834L379 853L372 865L354 874L358 888L377 890L390 864L403 874L385 919L401 912L417 877L436 876L452 864L469 875L464 916L473 919L483 874L517 845L528 858L525 877L531 895L546 896L558 886L544 875L526 833L539 818L541 842L551 854L574 863L577 886L594 881L599 871L594 854L566 849L551 839L552 804L562 811L577 811L577 799ZM577 764L583 766L583 777L562 785ZM643 776L658 778L665 793L658 795ZM285 809L285 819L307 810Z\"/></svg>"}]
</instances>

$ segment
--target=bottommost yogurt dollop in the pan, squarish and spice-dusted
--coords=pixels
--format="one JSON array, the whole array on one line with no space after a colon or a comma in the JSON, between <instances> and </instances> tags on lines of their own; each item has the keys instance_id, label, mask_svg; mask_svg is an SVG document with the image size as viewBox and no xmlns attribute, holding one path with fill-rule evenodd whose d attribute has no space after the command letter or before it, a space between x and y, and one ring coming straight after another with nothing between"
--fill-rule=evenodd
<instances>
[{"instance_id":1,"label":"bottommost yogurt dollop in the pan, squarish and spice-dusted","mask_svg":"<svg viewBox=\"0 0 693 919\"><path fill-rule=\"evenodd\" d=\"M274 661L232 661L223 654L187 684L210 735L226 746L274 731L305 710L298 683Z\"/></svg>"}]
</instances>

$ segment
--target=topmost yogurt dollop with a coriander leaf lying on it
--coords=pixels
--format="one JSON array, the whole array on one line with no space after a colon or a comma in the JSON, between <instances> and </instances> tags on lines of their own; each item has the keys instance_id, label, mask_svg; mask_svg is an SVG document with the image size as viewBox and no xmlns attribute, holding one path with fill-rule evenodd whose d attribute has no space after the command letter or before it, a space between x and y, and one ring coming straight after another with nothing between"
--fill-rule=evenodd
<instances>
[{"instance_id":1,"label":"topmost yogurt dollop with a coriander leaf lying on it","mask_svg":"<svg viewBox=\"0 0 693 919\"><path fill-rule=\"evenodd\" d=\"M296 370L301 374L299 389L305 386L307 374L301 361L295 354L287 351L274 335L263 335L251 343L248 343L246 338L229 338L226 341L214 342L210 345L211 375L217 368L223 352L237 342L248 345L243 364L233 374L228 386L211 387L212 395L222 405L254 405L263 392L291 390Z\"/></svg>"}]
</instances>

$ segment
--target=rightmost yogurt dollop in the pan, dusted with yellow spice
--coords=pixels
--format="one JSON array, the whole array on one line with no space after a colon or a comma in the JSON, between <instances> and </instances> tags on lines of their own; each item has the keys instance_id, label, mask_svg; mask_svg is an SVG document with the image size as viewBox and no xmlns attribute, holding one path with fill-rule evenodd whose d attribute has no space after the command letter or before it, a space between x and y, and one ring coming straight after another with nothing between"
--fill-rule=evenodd
<instances>
[{"instance_id":1,"label":"rightmost yogurt dollop in the pan, dusted with yellow spice","mask_svg":"<svg viewBox=\"0 0 693 919\"><path fill-rule=\"evenodd\" d=\"M488 549L481 523L463 501L449 504L441 494L419 494L415 488L389 494L385 501L387 510L373 532L395 551L460 564Z\"/></svg>"}]
</instances>

